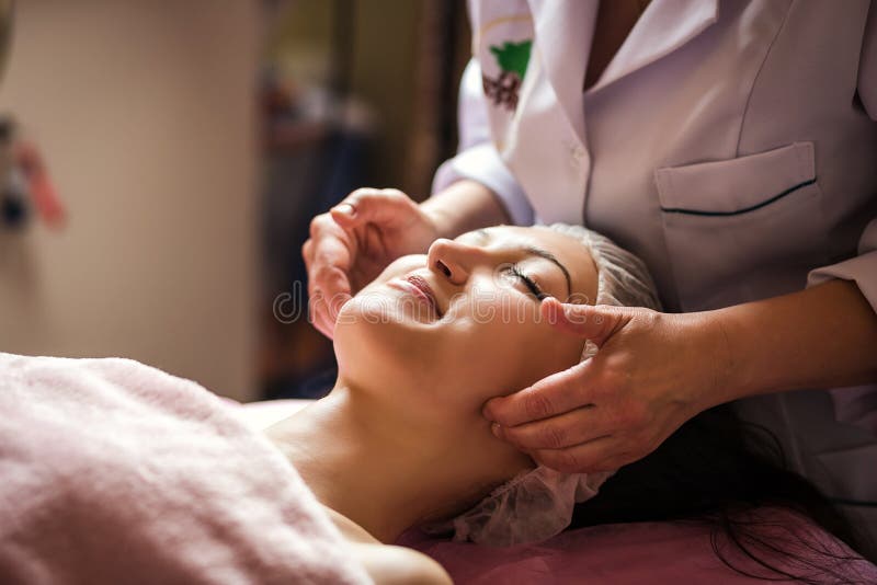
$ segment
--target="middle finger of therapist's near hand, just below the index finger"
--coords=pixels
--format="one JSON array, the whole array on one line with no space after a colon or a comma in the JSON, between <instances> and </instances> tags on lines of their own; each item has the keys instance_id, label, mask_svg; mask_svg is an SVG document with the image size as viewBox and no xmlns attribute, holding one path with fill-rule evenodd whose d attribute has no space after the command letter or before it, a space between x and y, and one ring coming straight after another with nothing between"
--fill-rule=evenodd
<instances>
[{"instance_id":1,"label":"middle finger of therapist's near hand, just below the index finger","mask_svg":"<svg viewBox=\"0 0 877 585\"><path fill-rule=\"evenodd\" d=\"M582 406L557 416L524 423L517 426L501 426L493 423L493 434L523 451L537 449L563 449L595 438L607 436L604 425L597 425L595 406Z\"/></svg>"}]
</instances>

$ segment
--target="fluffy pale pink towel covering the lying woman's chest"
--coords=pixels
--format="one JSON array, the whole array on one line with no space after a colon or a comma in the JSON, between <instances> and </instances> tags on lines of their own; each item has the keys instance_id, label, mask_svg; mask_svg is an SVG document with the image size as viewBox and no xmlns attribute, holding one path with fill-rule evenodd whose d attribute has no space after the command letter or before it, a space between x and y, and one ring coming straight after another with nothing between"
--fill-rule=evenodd
<instances>
[{"instance_id":1,"label":"fluffy pale pink towel covering the lying woman's chest","mask_svg":"<svg viewBox=\"0 0 877 585\"><path fill-rule=\"evenodd\" d=\"M0 583L369 583L231 406L127 359L0 354Z\"/></svg>"}]
</instances>

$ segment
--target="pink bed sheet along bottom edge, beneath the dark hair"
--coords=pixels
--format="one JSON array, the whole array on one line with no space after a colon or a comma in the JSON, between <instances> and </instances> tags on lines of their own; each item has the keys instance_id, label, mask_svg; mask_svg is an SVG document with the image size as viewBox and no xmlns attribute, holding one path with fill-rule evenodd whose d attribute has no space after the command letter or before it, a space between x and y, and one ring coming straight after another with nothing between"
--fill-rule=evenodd
<instances>
[{"instance_id":1,"label":"pink bed sheet along bottom edge, beneath the dark hair","mask_svg":"<svg viewBox=\"0 0 877 585\"><path fill-rule=\"evenodd\" d=\"M827 547L841 555L851 554L846 547L821 530L812 526L805 529L816 535L818 547ZM785 529L782 532L785 534ZM777 538L782 538L782 535ZM539 544L505 549L452 542L428 537L417 530L406 534L401 543L438 561L458 585L756 582L722 563L713 550L710 530L693 523L596 526L562 532ZM752 561L736 553L734 549L726 547L724 551L736 567L754 575L768 575ZM861 558L853 561L825 561L821 555L811 558L819 569L813 571L809 567L809 574L818 583L877 583L877 567ZM801 572L800 566L791 566L787 559L775 555L771 563ZM825 569L831 569L841 578L832 577ZM777 575L772 576L776 578Z\"/></svg>"}]
</instances>

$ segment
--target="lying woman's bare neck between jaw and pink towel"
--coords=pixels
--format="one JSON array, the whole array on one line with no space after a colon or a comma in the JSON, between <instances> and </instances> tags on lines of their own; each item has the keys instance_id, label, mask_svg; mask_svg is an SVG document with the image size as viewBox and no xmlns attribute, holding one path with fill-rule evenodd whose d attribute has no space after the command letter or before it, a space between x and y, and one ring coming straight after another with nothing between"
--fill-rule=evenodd
<instances>
[{"instance_id":1,"label":"lying woman's bare neck between jaw and pink towel","mask_svg":"<svg viewBox=\"0 0 877 585\"><path fill-rule=\"evenodd\" d=\"M476 434L475 440L490 440L488 423L478 418L456 429L424 428L339 382L269 436L320 503L394 542L407 528L448 515L467 496L480 497L508 479L509 466L490 469L465 456Z\"/></svg>"}]
</instances>

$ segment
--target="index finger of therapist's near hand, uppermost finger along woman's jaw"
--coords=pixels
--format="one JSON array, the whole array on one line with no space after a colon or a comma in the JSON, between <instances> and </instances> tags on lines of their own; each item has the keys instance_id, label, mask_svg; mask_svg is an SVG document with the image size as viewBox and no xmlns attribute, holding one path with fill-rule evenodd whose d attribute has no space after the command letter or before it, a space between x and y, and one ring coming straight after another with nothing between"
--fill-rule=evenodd
<instances>
[{"instance_id":1,"label":"index finger of therapist's near hand, uppermost finger along woman's jaw","mask_svg":"<svg viewBox=\"0 0 877 585\"><path fill-rule=\"evenodd\" d=\"M589 366L588 363L577 364L543 378L529 388L490 399L482 414L501 426L517 426L585 406L590 404L590 397L583 374Z\"/></svg>"}]
</instances>

